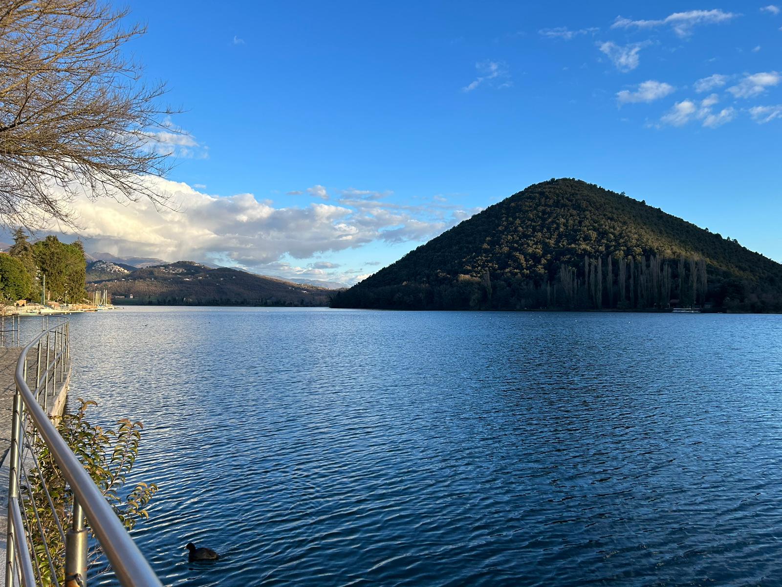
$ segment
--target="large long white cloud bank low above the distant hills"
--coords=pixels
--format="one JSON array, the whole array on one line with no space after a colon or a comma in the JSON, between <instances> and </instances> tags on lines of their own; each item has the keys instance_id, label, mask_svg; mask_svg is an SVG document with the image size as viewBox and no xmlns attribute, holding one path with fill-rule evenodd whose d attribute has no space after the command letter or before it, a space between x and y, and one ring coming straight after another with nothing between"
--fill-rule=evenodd
<instances>
[{"instance_id":1,"label":"large long white cloud bank low above the distant hills","mask_svg":"<svg viewBox=\"0 0 782 587\"><path fill-rule=\"evenodd\" d=\"M206 261L269 274L270 264L289 258L311 259L377 241L429 239L478 211L361 198L274 207L249 193L212 196L185 183L153 177L143 181L167 194L173 209L159 211L145 199L92 201L86 193L74 200L79 235L88 250ZM335 267L312 261L305 269L328 272Z\"/></svg>"}]
</instances>

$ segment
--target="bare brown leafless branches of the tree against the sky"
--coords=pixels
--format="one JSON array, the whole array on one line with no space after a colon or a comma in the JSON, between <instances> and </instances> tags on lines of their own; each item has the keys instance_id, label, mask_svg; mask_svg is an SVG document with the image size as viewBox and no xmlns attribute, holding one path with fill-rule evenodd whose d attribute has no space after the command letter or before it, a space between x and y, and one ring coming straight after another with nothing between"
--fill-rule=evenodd
<instances>
[{"instance_id":1,"label":"bare brown leafless branches of the tree against the sky","mask_svg":"<svg viewBox=\"0 0 782 587\"><path fill-rule=\"evenodd\" d=\"M164 205L144 175L170 168L160 139L172 136L160 106L123 45L127 9L102 0L0 0L0 221L74 225L70 201L138 200Z\"/></svg>"}]
</instances>

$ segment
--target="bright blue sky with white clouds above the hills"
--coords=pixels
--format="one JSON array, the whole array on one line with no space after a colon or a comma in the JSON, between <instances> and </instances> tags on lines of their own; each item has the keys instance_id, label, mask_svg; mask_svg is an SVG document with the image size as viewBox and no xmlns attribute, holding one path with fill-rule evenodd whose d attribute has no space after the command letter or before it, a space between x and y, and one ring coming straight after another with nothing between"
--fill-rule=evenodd
<instances>
[{"instance_id":1,"label":"bright blue sky with white clouds above the hills","mask_svg":"<svg viewBox=\"0 0 782 587\"><path fill-rule=\"evenodd\" d=\"M782 5L534 4L131 2L192 218L88 248L350 282L564 176L782 261Z\"/></svg>"}]
</instances>

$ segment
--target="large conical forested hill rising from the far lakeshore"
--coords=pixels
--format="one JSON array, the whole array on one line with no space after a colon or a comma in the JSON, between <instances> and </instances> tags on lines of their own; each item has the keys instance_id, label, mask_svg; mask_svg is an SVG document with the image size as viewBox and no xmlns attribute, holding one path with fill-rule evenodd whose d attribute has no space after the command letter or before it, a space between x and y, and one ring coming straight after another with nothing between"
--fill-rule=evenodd
<instances>
[{"instance_id":1,"label":"large conical forested hill rising from the far lakeshore","mask_svg":"<svg viewBox=\"0 0 782 587\"><path fill-rule=\"evenodd\" d=\"M782 311L782 265L576 179L494 204L337 294L337 308Z\"/></svg>"}]
</instances>

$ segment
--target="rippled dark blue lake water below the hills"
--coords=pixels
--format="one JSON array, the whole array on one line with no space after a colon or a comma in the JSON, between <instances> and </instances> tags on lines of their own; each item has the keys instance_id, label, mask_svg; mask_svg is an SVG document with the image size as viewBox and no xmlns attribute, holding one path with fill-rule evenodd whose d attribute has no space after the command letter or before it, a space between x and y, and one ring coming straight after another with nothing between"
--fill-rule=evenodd
<instances>
[{"instance_id":1,"label":"rippled dark blue lake water below the hills","mask_svg":"<svg viewBox=\"0 0 782 587\"><path fill-rule=\"evenodd\" d=\"M782 574L782 316L131 308L71 393L145 423L166 585ZM223 555L188 564L186 542Z\"/></svg>"}]
</instances>

